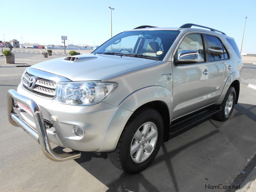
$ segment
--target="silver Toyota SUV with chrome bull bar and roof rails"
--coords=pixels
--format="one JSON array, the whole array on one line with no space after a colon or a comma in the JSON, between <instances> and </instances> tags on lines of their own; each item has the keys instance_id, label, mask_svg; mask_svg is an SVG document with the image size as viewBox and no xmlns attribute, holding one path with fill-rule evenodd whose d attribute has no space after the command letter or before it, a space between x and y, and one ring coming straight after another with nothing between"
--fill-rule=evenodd
<instances>
[{"instance_id":1,"label":"silver Toyota SUV with chrome bull bar and roof rails","mask_svg":"<svg viewBox=\"0 0 256 192\"><path fill-rule=\"evenodd\" d=\"M141 26L90 54L27 68L8 92L8 118L53 161L106 151L116 167L138 173L170 134L210 116L227 120L241 70L234 39L221 31ZM73 151L58 154L50 141Z\"/></svg>"}]
</instances>

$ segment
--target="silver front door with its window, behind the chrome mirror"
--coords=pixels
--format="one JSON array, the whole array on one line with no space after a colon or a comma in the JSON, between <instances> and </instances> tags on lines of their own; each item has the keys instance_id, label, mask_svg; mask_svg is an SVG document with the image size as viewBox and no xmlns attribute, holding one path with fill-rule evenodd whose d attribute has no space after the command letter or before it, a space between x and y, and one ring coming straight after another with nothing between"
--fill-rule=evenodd
<instances>
[{"instance_id":1,"label":"silver front door with its window, behind the chrome mirror","mask_svg":"<svg viewBox=\"0 0 256 192\"><path fill-rule=\"evenodd\" d=\"M190 33L183 36L174 50L173 71L173 116L172 119L186 115L207 105L207 91L209 86L210 71L207 62L203 34ZM181 51L193 50L199 52L199 62L191 64L179 64L177 55Z\"/></svg>"}]
</instances>

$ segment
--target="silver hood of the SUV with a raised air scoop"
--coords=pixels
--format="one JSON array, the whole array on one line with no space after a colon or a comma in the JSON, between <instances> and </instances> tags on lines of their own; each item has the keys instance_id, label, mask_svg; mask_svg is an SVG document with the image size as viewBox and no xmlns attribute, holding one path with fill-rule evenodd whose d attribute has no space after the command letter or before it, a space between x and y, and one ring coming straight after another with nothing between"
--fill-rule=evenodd
<instances>
[{"instance_id":1,"label":"silver hood of the SUV with a raised air scoop","mask_svg":"<svg viewBox=\"0 0 256 192\"><path fill-rule=\"evenodd\" d=\"M60 75L71 81L92 81L101 80L130 68L156 62L156 60L143 58L92 53L70 57L76 57L76 60L69 61L64 60L65 58L58 58L38 63L31 66L31 68ZM70 59L70 57L67 59Z\"/></svg>"}]
</instances>

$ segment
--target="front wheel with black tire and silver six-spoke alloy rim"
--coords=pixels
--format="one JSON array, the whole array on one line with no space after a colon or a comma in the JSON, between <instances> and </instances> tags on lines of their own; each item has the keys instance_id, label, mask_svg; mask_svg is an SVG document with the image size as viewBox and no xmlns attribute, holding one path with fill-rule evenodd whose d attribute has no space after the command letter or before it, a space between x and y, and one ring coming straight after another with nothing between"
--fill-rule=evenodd
<instances>
[{"instance_id":1,"label":"front wheel with black tire and silver six-spoke alloy rim","mask_svg":"<svg viewBox=\"0 0 256 192\"><path fill-rule=\"evenodd\" d=\"M124 172L141 172L155 159L163 133L162 116L153 108L139 109L128 120L116 149L108 152L108 158Z\"/></svg>"}]
</instances>

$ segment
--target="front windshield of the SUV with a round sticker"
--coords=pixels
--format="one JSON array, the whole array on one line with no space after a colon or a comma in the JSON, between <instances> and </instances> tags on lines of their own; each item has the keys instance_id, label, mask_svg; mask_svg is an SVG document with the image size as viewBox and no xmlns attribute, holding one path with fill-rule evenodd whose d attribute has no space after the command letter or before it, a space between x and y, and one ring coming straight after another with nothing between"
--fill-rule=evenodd
<instances>
[{"instance_id":1,"label":"front windshield of the SUV with a round sticker","mask_svg":"<svg viewBox=\"0 0 256 192\"><path fill-rule=\"evenodd\" d=\"M163 60L179 32L177 30L125 31L109 39L92 53Z\"/></svg>"}]
</instances>

